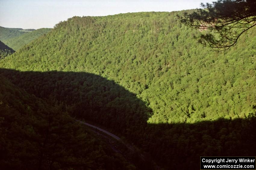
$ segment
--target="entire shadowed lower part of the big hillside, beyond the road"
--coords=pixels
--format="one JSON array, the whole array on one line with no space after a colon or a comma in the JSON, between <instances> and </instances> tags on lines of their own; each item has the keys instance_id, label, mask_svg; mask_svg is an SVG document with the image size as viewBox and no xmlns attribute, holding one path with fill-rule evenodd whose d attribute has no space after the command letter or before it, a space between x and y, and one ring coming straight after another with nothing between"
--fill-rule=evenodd
<instances>
[{"instance_id":1,"label":"entire shadowed lower part of the big hillside, beyond the road","mask_svg":"<svg viewBox=\"0 0 256 170\"><path fill-rule=\"evenodd\" d=\"M166 169L199 168L200 156L255 156L255 114L193 124L148 124L152 110L114 81L85 72L0 69L14 85L97 122L150 153ZM114 123L113 123L114 122ZM121 135L121 136L120 136Z\"/></svg>"}]
</instances>

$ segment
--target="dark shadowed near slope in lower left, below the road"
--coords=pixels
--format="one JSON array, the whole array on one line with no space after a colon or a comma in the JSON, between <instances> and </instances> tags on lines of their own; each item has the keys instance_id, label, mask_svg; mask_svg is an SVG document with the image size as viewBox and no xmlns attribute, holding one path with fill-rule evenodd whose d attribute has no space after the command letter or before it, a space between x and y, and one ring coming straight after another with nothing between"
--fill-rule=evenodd
<instances>
[{"instance_id":1,"label":"dark shadowed near slope in lower left, below the road","mask_svg":"<svg viewBox=\"0 0 256 170\"><path fill-rule=\"evenodd\" d=\"M0 79L0 169L133 166L63 112L62 104L45 102Z\"/></svg>"}]
</instances>

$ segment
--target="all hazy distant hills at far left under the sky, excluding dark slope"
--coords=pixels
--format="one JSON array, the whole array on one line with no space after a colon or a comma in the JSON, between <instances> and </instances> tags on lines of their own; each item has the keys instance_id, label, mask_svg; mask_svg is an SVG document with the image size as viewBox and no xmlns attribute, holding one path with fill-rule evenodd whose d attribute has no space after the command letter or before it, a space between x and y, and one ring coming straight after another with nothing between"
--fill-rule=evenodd
<instances>
[{"instance_id":1,"label":"all hazy distant hills at far left under the sky, excluding dark slope","mask_svg":"<svg viewBox=\"0 0 256 170\"><path fill-rule=\"evenodd\" d=\"M0 27L0 40L17 51L43 34L47 34L49 31L51 31L51 28L40 28L35 30Z\"/></svg>"}]
</instances>

